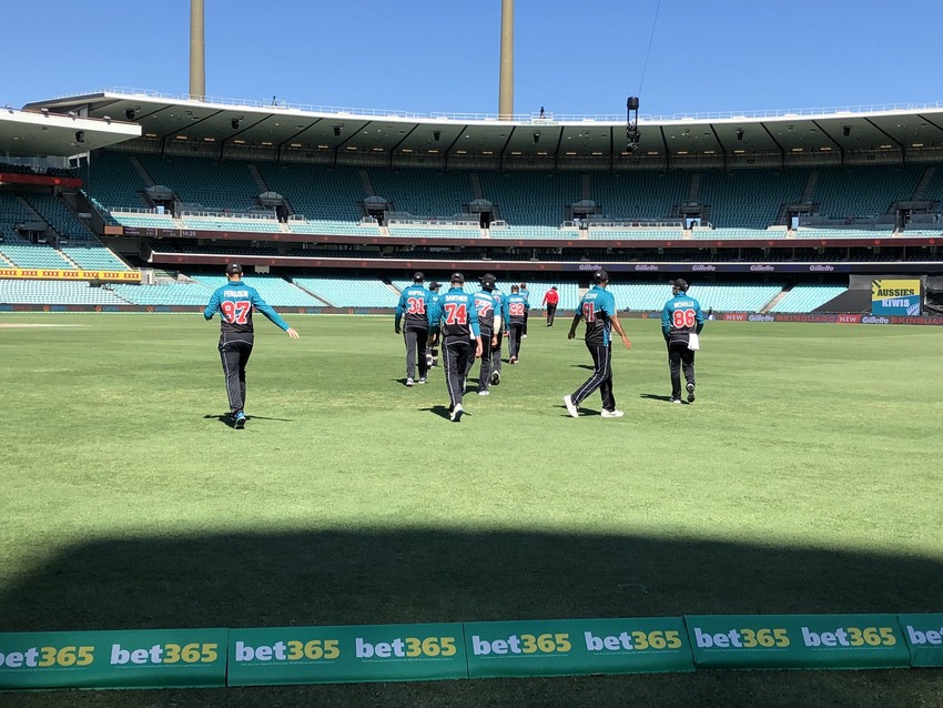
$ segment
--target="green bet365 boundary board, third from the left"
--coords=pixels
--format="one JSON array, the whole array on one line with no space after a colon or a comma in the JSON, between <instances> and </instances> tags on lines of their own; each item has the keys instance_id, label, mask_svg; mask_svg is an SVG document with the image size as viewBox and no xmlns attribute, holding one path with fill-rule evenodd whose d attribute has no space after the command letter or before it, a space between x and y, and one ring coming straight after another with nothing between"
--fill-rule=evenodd
<instances>
[{"instance_id":1,"label":"green bet365 boundary board, third from the left","mask_svg":"<svg viewBox=\"0 0 943 708\"><path fill-rule=\"evenodd\" d=\"M466 623L469 678L692 671L680 617Z\"/></svg>"}]
</instances>

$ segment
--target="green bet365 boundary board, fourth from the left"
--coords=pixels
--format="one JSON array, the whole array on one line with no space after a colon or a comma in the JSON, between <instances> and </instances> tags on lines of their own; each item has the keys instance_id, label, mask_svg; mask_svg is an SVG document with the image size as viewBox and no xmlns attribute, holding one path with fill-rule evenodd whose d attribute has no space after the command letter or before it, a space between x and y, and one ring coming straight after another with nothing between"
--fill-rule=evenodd
<instances>
[{"instance_id":1,"label":"green bet365 boundary board, fourth from the left","mask_svg":"<svg viewBox=\"0 0 943 708\"><path fill-rule=\"evenodd\" d=\"M903 668L896 615L688 616L698 668Z\"/></svg>"}]
</instances>

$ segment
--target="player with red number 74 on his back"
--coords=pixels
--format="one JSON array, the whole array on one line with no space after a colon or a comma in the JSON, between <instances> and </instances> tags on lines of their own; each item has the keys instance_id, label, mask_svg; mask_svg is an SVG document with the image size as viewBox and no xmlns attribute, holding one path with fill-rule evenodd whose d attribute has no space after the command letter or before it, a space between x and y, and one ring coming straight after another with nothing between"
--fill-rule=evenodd
<instances>
[{"instance_id":1,"label":"player with red number 74 on his back","mask_svg":"<svg viewBox=\"0 0 943 708\"><path fill-rule=\"evenodd\" d=\"M445 384L448 388L449 418L462 419L462 394L468 360L481 356L481 336L475 311L475 299L465 292L465 276L453 273L452 287L439 296L429 313L429 324L442 327L442 348L445 360Z\"/></svg>"}]
</instances>

